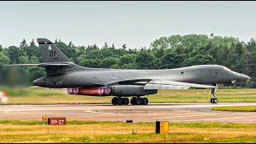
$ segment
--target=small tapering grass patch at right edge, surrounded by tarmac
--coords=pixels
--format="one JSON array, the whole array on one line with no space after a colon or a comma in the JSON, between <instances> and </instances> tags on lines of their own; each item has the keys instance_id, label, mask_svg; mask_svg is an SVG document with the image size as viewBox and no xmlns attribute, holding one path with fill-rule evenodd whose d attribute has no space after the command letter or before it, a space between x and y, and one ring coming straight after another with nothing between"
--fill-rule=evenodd
<instances>
[{"instance_id":1,"label":"small tapering grass patch at right edge, surrounded by tarmac","mask_svg":"<svg viewBox=\"0 0 256 144\"><path fill-rule=\"evenodd\" d=\"M212 110L256 112L256 106L216 106Z\"/></svg>"}]
</instances>

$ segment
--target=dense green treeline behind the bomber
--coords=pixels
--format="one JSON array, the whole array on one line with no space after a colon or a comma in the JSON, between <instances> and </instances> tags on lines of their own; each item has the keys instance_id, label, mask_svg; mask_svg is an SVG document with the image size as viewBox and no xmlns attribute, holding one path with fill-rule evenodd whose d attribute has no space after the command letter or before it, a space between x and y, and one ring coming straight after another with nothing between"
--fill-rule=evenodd
<instances>
[{"instance_id":1,"label":"dense green treeline behind the bomber","mask_svg":"<svg viewBox=\"0 0 256 144\"><path fill-rule=\"evenodd\" d=\"M218 64L256 78L256 42L242 42L238 38L207 36L205 34L172 35L150 43L150 47L130 48L126 44L115 47L75 46L55 40L55 45L70 60L80 66L115 69L172 69L182 66ZM0 65L15 63L40 63L41 51L32 42L22 40L20 46L0 45ZM35 78L45 76L45 70L36 66L0 69L2 84L31 85Z\"/></svg>"}]
</instances>

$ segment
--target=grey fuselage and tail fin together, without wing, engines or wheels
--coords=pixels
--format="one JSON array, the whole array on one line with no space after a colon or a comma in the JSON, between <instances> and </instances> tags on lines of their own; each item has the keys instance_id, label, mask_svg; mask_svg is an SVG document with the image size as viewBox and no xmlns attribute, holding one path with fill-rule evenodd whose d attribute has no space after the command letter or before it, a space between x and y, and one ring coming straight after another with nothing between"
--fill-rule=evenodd
<instances>
[{"instance_id":1,"label":"grey fuselage and tail fin together, without wing, engines or wheels","mask_svg":"<svg viewBox=\"0 0 256 144\"><path fill-rule=\"evenodd\" d=\"M154 79L198 84L246 82L250 77L238 74L225 66L200 65L169 70L124 70L77 66L66 58L52 42L38 38L44 62L58 62L67 66L46 66L47 77L34 81L36 86L68 88L82 86L108 86L118 83L149 81ZM61 75L58 75L61 74Z\"/></svg>"}]
</instances>

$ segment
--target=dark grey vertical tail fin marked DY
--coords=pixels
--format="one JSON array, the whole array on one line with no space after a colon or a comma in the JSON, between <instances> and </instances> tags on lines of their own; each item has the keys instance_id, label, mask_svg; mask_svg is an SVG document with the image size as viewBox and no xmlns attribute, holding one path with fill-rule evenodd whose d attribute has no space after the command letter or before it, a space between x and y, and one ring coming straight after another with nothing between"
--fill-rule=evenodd
<instances>
[{"instance_id":1,"label":"dark grey vertical tail fin marked DY","mask_svg":"<svg viewBox=\"0 0 256 144\"><path fill-rule=\"evenodd\" d=\"M43 62L70 62L70 59L46 38L38 38L39 48L42 51Z\"/></svg>"}]
</instances>

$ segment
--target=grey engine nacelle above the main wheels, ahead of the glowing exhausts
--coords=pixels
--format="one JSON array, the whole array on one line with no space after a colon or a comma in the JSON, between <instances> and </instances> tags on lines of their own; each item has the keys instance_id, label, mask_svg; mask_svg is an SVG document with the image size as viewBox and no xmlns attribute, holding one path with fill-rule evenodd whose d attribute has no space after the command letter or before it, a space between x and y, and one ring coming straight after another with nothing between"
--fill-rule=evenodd
<instances>
[{"instance_id":1,"label":"grey engine nacelle above the main wheels, ahead of the glowing exhausts","mask_svg":"<svg viewBox=\"0 0 256 144\"><path fill-rule=\"evenodd\" d=\"M144 90L140 85L116 85L113 86L112 95L115 96L142 96L157 94L158 90Z\"/></svg>"}]
</instances>

